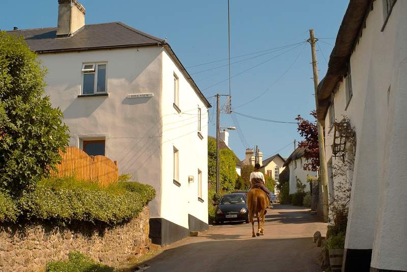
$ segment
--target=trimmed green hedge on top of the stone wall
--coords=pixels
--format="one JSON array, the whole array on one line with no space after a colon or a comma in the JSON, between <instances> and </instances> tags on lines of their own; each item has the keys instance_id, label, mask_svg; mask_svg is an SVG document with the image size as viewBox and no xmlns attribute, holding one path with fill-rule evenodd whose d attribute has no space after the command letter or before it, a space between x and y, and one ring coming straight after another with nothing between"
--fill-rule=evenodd
<instances>
[{"instance_id":1,"label":"trimmed green hedge on top of the stone wall","mask_svg":"<svg viewBox=\"0 0 407 272\"><path fill-rule=\"evenodd\" d=\"M154 197L153 187L137 182L119 182L100 188L90 182L65 178L42 180L34 191L16 200L9 198L7 203L13 207L11 214L17 213L26 219L114 225L135 217ZM3 213L3 209L0 212L0 221L13 219Z\"/></svg>"}]
</instances>

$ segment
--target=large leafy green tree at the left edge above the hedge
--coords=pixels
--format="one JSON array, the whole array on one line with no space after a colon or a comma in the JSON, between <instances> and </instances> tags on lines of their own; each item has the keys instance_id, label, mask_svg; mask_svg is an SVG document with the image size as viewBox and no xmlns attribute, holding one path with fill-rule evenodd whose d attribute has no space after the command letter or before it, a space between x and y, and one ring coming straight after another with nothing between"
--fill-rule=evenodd
<instances>
[{"instance_id":1,"label":"large leafy green tree at the left edge above the hedge","mask_svg":"<svg viewBox=\"0 0 407 272\"><path fill-rule=\"evenodd\" d=\"M45 68L23 38L0 32L0 188L33 189L61 160L68 127L44 95Z\"/></svg>"}]
</instances>

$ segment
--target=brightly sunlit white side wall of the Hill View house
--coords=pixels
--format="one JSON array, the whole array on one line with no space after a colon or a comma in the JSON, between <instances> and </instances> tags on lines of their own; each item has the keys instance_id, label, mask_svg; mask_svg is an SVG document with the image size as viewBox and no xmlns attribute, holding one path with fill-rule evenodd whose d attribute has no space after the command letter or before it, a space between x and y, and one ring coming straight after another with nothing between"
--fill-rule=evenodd
<instances>
[{"instance_id":1,"label":"brightly sunlit white side wall of the Hill View house","mask_svg":"<svg viewBox=\"0 0 407 272\"><path fill-rule=\"evenodd\" d=\"M163 59L163 135L162 138L162 196L161 217L188 228L188 214L208 223L208 109L197 97L189 82L170 55L164 51ZM173 108L173 74L179 78L178 113ZM198 137L198 107L201 108L201 134ZM179 150L180 180L178 187L172 182L173 146ZM202 171L202 198L198 200L198 169ZM188 183L188 176L194 182Z\"/></svg>"}]
</instances>

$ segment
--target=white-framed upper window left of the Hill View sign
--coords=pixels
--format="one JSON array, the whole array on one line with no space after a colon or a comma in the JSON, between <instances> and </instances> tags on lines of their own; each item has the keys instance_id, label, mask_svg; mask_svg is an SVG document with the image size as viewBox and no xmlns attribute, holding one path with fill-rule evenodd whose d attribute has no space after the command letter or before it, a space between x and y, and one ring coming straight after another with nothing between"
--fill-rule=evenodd
<instances>
[{"instance_id":1,"label":"white-framed upper window left of the Hill View sign","mask_svg":"<svg viewBox=\"0 0 407 272\"><path fill-rule=\"evenodd\" d=\"M82 94L106 92L106 63L84 63L82 74Z\"/></svg>"}]
</instances>

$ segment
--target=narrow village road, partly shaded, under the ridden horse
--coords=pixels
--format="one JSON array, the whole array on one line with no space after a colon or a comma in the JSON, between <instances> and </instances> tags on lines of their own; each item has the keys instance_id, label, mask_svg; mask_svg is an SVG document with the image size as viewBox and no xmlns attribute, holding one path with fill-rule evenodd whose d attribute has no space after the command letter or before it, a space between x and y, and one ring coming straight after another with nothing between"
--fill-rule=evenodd
<instances>
[{"instance_id":1,"label":"narrow village road, partly shaded, under the ridden horse","mask_svg":"<svg viewBox=\"0 0 407 272\"><path fill-rule=\"evenodd\" d=\"M257 230L257 222L254 225ZM198 237L174 243L146 263L163 271L320 271L315 231L326 232L310 210L274 205L266 215L265 235L251 237L251 224L211 226Z\"/></svg>"}]
</instances>

